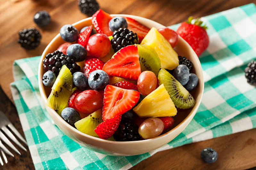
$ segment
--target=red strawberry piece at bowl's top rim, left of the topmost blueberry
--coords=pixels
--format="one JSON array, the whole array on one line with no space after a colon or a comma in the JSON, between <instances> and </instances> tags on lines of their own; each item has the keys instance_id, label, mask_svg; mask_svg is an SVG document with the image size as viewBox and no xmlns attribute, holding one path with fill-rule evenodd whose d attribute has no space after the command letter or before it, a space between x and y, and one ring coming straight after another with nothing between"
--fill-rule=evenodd
<instances>
[{"instance_id":1,"label":"red strawberry piece at bowl's top rim, left of the topmost blueberry","mask_svg":"<svg viewBox=\"0 0 256 170\"><path fill-rule=\"evenodd\" d=\"M95 12L95 14L92 16L92 23L97 33L104 33L107 36L112 35L113 32L109 29L108 26L108 23L111 19L112 17L102 10Z\"/></svg>"}]
</instances>

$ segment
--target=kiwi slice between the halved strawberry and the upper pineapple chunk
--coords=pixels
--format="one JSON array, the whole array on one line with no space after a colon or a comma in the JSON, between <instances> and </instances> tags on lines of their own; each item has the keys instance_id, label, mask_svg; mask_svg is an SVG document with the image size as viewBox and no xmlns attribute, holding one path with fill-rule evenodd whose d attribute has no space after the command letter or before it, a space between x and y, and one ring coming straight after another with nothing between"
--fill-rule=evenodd
<instances>
[{"instance_id":1,"label":"kiwi slice between the halved strawberry and the upper pineapple chunk","mask_svg":"<svg viewBox=\"0 0 256 170\"><path fill-rule=\"evenodd\" d=\"M161 63L156 51L146 45L137 45L137 47L140 57L139 61L141 72L148 70L158 76L158 72L161 69Z\"/></svg>"}]
</instances>

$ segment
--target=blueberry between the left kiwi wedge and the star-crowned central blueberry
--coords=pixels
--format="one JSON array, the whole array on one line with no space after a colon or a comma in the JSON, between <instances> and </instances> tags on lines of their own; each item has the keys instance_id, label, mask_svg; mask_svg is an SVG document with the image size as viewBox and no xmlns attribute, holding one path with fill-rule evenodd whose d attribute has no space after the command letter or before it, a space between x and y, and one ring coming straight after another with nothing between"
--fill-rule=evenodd
<instances>
[{"instance_id":1,"label":"blueberry between the left kiwi wedge and the star-crowned central blueberry","mask_svg":"<svg viewBox=\"0 0 256 170\"><path fill-rule=\"evenodd\" d=\"M73 84L79 90L86 90L86 88L88 87L88 80L85 77L84 73L82 73L82 72L75 72L73 74Z\"/></svg>"}]
</instances>

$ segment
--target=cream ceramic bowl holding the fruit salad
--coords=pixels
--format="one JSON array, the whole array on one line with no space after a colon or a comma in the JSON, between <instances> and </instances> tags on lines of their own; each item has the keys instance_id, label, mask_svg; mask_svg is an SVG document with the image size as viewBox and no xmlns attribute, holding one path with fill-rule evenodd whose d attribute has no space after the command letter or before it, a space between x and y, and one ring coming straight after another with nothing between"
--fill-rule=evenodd
<instances>
[{"instance_id":1,"label":"cream ceramic bowl holding the fruit salad","mask_svg":"<svg viewBox=\"0 0 256 170\"><path fill-rule=\"evenodd\" d=\"M162 28L165 27L155 21L150 19L133 16L133 15L116 15L113 14L111 16L122 16L122 17L130 17L134 18L140 23L148 26L149 28ZM82 29L84 26L91 25L91 17L85 18L73 24L78 30ZM39 90L41 97L43 98L44 103L46 103L47 97L50 93L50 88L46 88L42 84L42 76L44 74L43 69L43 59L45 55L48 53L54 52L64 41L62 40L60 34L56 35L54 39L48 44L45 48L38 70L38 83L39 83ZM201 103L202 100L202 93L204 88L203 83L203 75L202 75L202 67L200 61L193 51L193 49L184 41L181 37L179 37L178 44L174 48L178 55L186 56L193 64L194 69L193 72L198 76L199 82L196 89L192 92L196 104L193 108L188 109L186 111L178 111L178 114L175 116L175 127L171 129L169 132L162 134L161 136L147 139L147 140L140 140L140 141L132 141L132 142L116 142L116 141L109 141L103 140L97 137L92 137L87 134L84 134L77 129L70 126L67 122L65 122L56 112L54 109L46 106L46 110L48 111L49 115L52 117L53 121L56 125L62 130L64 134L74 140L76 143L85 146L93 151L100 152L103 154L108 155L120 155L120 156L130 156L130 155L137 155L146 152L153 151L164 144L167 144L172 139L177 137L188 125L188 123L193 119L196 111Z\"/></svg>"}]
</instances>

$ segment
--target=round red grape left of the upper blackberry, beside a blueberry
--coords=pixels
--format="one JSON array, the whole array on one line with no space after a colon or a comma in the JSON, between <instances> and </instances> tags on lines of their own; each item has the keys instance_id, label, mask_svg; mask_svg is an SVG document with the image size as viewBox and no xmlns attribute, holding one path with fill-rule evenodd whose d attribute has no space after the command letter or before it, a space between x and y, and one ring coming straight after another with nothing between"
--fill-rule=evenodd
<instances>
[{"instance_id":1,"label":"round red grape left of the upper blackberry, beside a blueberry","mask_svg":"<svg viewBox=\"0 0 256 170\"><path fill-rule=\"evenodd\" d=\"M87 52L92 57L104 57L110 51L111 43L106 34L97 33L90 36L87 44Z\"/></svg>"}]
</instances>

